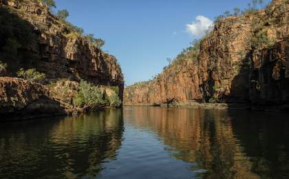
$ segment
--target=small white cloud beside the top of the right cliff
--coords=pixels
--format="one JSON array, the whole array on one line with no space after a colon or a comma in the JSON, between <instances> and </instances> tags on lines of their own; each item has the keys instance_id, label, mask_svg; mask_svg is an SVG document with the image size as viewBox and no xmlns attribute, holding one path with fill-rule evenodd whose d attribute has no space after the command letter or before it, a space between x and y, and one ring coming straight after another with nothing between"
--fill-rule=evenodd
<instances>
[{"instance_id":1,"label":"small white cloud beside the top of the right cliff","mask_svg":"<svg viewBox=\"0 0 289 179\"><path fill-rule=\"evenodd\" d=\"M204 16L197 16L195 21L190 24L186 24L186 32L192 34L193 36L203 36L212 27L213 21Z\"/></svg>"}]
</instances>

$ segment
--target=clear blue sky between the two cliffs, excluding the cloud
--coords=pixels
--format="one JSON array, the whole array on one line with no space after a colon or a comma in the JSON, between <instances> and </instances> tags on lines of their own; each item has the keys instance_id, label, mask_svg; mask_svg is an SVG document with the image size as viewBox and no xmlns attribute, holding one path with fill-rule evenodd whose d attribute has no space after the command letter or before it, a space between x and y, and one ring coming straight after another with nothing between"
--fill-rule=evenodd
<instances>
[{"instance_id":1,"label":"clear blue sky between the two cliffs, excluding the cloud","mask_svg":"<svg viewBox=\"0 0 289 179\"><path fill-rule=\"evenodd\" d=\"M162 72L167 58L173 59L200 38L186 32L186 24L198 16L213 21L224 11L244 9L248 3L250 0L56 0L56 10L67 9L67 21L104 39L103 50L116 56L126 84L131 85Z\"/></svg>"}]
</instances>

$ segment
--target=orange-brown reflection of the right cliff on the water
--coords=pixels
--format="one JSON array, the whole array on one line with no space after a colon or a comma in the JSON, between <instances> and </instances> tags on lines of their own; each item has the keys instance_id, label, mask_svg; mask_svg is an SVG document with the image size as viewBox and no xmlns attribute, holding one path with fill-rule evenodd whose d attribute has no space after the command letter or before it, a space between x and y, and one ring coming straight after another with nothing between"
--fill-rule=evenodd
<instances>
[{"instance_id":1,"label":"orange-brown reflection of the right cliff on the water","mask_svg":"<svg viewBox=\"0 0 289 179\"><path fill-rule=\"evenodd\" d=\"M277 127L261 120L260 116L248 114L251 120L259 118L257 122L254 122L256 126L270 128L262 136L258 136L258 131L260 131L258 127L253 127L248 131L251 123L246 121L248 115L244 116L244 114L246 114L244 111L162 107L132 107L131 110L125 110L125 116L132 116L129 118L129 123L156 132L161 140L172 148L170 149L171 155L191 162L191 169L198 173L198 176L203 178L270 178L276 172L281 172L278 176L286 176L289 169L288 122L286 122L287 127ZM239 123L246 123L246 125ZM275 130L280 131L272 138L271 133ZM259 146L262 144L255 143L256 134L257 138L263 138L262 149ZM271 148L279 143L277 146L281 150L278 151L278 147L272 149L279 155L273 152L270 158L264 160L262 157L264 153L271 152L265 147L266 141L270 141ZM278 162L279 169L262 163L273 164L276 160L283 161ZM266 171L266 173L261 171Z\"/></svg>"}]
</instances>

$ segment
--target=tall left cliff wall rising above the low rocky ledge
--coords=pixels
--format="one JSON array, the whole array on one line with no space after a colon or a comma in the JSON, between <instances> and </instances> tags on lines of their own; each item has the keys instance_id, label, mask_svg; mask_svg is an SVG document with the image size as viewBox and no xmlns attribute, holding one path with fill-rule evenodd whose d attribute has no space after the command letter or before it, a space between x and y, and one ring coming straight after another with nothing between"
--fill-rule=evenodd
<instances>
[{"instance_id":1,"label":"tall left cliff wall rising above the low rocky ledge","mask_svg":"<svg viewBox=\"0 0 289 179\"><path fill-rule=\"evenodd\" d=\"M54 17L47 6L37 0L0 0L1 16L20 19L32 38L25 45L16 48L17 63L0 53L1 61L8 63L10 76L20 67L36 68L49 78L83 78L95 85L114 85L120 88L122 97L123 75L116 58L89 43L86 39L69 30L67 25ZM2 19L3 21L3 19ZM19 25L19 21L12 24ZM14 30L14 34L17 31ZM19 34L21 36L21 34ZM1 36L1 45L9 40ZM15 38L20 41L19 38ZM4 42L4 43L3 43ZM2 47L1 47L2 48ZM32 60L33 59L33 60ZM28 63L32 61L32 63ZM14 66L14 67L12 67Z\"/></svg>"}]
</instances>

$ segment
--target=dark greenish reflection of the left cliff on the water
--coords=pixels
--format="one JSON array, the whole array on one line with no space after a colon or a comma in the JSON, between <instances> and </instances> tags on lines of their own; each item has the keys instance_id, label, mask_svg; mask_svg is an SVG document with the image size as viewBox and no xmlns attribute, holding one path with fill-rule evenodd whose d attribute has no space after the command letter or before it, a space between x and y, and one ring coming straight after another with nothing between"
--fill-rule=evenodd
<instances>
[{"instance_id":1,"label":"dark greenish reflection of the left cliff on the water","mask_svg":"<svg viewBox=\"0 0 289 179\"><path fill-rule=\"evenodd\" d=\"M121 109L0 125L0 178L98 176L123 131Z\"/></svg>"}]
</instances>

